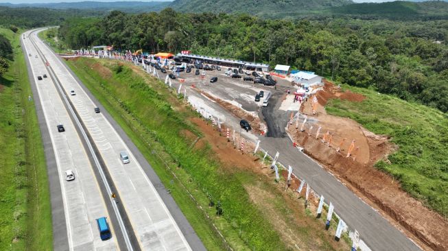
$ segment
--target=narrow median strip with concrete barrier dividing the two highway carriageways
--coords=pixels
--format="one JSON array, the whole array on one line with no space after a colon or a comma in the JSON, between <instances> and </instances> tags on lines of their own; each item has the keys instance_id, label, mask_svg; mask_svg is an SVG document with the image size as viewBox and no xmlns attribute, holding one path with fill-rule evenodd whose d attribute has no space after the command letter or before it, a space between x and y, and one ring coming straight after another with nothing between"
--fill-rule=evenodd
<instances>
[{"instance_id":1,"label":"narrow median strip with concrete barrier dividing the two highway carriageways","mask_svg":"<svg viewBox=\"0 0 448 251\"><path fill-rule=\"evenodd\" d=\"M36 30L30 32L32 34ZM36 43L32 39L32 36L29 35L28 38L31 40L32 44L36 48L36 51L40 55L40 59L43 60L44 64L47 62L45 59L45 56L40 51L40 49L37 47ZM121 203L121 199L116 196L115 198L112 198L110 195L113 194L113 191L116 191L115 184L113 184L112 179L110 178L110 174L108 173L107 169L103 169L104 167L104 160L102 159L102 156L99 154L99 150L97 149L97 146L93 142L93 139L91 135L89 134L86 125L82 122L82 119L80 119L80 115L75 110L73 104L69 99L67 99L67 93L62 89L61 83L58 80L58 77L54 73L53 69L47 65L47 70L49 72L49 77L51 77L51 80L53 80L56 88L58 89L58 93L60 95L60 98L64 100L64 106L67 110L69 110L69 115L71 117L71 120L73 123L77 126L75 126L76 130L78 131L78 134L82 135L82 141L84 147L86 147L89 151L86 151L89 154L89 158L91 161L93 160L93 163L95 163L95 166L97 169L94 169L95 176L97 180L101 178L102 182L99 182L100 186L102 186L102 195L104 201L109 201L110 204L107 204L108 211L110 211L110 206L113 208L113 214L110 214L110 217L112 222L118 223L119 230L116 229L117 233L117 241L119 243L119 246L122 250L141 250L139 246L139 242L137 240L137 237L134 235L134 230L132 229L132 226L130 224L130 220L128 218L128 215L126 214L126 211L123 207L123 204ZM99 177L98 177L99 176ZM106 189L106 193L104 193L104 189ZM115 224L116 226L117 224ZM126 246L123 246L123 242L126 243Z\"/></svg>"}]
</instances>

